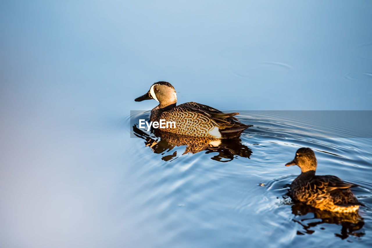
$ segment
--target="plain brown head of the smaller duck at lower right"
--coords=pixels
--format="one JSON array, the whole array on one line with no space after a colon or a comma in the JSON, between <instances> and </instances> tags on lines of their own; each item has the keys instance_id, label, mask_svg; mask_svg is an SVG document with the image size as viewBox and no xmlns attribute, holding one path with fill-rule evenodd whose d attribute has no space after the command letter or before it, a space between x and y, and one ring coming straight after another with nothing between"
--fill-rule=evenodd
<instances>
[{"instance_id":1,"label":"plain brown head of the smaller duck at lower right","mask_svg":"<svg viewBox=\"0 0 372 248\"><path fill-rule=\"evenodd\" d=\"M314 151L305 147L298 149L295 159L285 164L285 166L290 165L297 165L301 168L301 172L315 171L317 169L317 159Z\"/></svg>"}]
</instances>

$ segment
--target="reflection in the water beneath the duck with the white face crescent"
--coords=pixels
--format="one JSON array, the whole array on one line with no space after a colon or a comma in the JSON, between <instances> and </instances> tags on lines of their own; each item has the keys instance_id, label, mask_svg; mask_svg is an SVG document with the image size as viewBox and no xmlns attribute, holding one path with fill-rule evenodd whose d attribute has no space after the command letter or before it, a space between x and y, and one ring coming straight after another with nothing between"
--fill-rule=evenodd
<instances>
[{"instance_id":1,"label":"reflection in the water beneath the duck with the white face crescent","mask_svg":"<svg viewBox=\"0 0 372 248\"><path fill-rule=\"evenodd\" d=\"M142 129L133 126L134 135L145 140L145 145L149 146L156 154L166 154L177 146L186 146L182 155L206 151L206 154L217 152L212 160L219 162L228 162L235 157L249 158L252 151L247 146L241 144L241 139L217 139L207 137L193 137L187 135L178 135L170 132L164 132L159 129L152 129L155 137L144 132ZM162 157L164 161L170 161L177 157L177 151L173 154Z\"/></svg>"}]
</instances>

